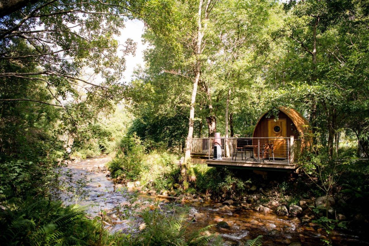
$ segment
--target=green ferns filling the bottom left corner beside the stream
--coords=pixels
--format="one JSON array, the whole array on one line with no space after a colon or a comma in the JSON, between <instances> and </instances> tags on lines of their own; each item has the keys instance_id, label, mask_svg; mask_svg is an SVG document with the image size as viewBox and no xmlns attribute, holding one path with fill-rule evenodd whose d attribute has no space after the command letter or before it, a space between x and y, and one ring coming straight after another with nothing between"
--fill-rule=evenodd
<instances>
[{"instance_id":1,"label":"green ferns filling the bottom left corner beside the stream","mask_svg":"<svg viewBox=\"0 0 369 246\"><path fill-rule=\"evenodd\" d=\"M96 220L87 219L83 208L64 208L61 202L48 200L18 200L4 205L0 239L8 245L94 245L120 240L101 230Z\"/></svg>"}]
</instances>

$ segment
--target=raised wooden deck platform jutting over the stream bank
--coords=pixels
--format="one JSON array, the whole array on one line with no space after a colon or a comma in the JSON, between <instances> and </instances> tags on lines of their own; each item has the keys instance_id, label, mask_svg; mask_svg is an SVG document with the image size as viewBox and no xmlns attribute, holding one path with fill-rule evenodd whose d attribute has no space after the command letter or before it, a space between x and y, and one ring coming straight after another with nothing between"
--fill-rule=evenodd
<instances>
[{"instance_id":1,"label":"raised wooden deck platform jutting over the stream bank","mask_svg":"<svg viewBox=\"0 0 369 246\"><path fill-rule=\"evenodd\" d=\"M223 157L223 160L208 159L208 153L191 153L193 163L207 164L208 167L228 167L238 169L249 169L249 170L261 170L261 171L295 171L298 165L295 163L288 164L287 160L275 159L273 162L267 159L260 160L260 162L249 158L245 161L245 157L242 160L241 154L238 154L236 161L232 161L231 157ZM246 157L246 159L249 156ZM256 158L257 160L257 158Z\"/></svg>"}]
</instances>

